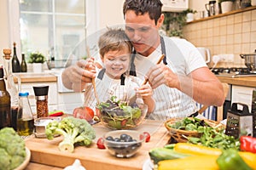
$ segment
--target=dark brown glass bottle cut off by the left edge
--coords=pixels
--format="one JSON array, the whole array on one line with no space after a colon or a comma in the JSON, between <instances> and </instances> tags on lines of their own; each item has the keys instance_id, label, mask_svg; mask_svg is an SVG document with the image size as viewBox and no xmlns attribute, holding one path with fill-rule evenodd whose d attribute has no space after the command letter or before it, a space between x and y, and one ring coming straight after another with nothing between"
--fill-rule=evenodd
<instances>
[{"instance_id":1,"label":"dark brown glass bottle cut off by the left edge","mask_svg":"<svg viewBox=\"0 0 256 170\"><path fill-rule=\"evenodd\" d=\"M4 82L3 66L0 66L0 129L11 126L10 95Z\"/></svg>"}]
</instances>

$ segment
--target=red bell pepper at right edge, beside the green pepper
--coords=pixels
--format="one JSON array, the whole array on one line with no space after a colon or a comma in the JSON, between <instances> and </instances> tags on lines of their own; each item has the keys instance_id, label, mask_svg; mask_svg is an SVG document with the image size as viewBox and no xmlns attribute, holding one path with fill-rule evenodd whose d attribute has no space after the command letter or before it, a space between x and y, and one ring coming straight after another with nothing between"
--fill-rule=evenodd
<instances>
[{"instance_id":1,"label":"red bell pepper at right edge, beside the green pepper","mask_svg":"<svg viewBox=\"0 0 256 170\"><path fill-rule=\"evenodd\" d=\"M241 136L240 143L240 150L256 153L256 138L252 136Z\"/></svg>"}]
</instances>

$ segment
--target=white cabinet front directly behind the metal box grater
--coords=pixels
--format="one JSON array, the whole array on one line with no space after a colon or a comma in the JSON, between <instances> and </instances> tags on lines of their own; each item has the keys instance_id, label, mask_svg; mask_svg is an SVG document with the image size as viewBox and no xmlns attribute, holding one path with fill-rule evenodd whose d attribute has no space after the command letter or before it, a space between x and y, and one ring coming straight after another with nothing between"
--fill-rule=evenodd
<instances>
[{"instance_id":1,"label":"white cabinet front directly behind the metal box grater","mask_svg":"<svg viewBox=\"0 0 256 170\"><path fill-rule=\"evenodd\" d=\"M246 104L251 112L253 89L254 88L232 85L231 103ZM241 108L238 109L241 110Z\"/></svg>"}]
</instances>

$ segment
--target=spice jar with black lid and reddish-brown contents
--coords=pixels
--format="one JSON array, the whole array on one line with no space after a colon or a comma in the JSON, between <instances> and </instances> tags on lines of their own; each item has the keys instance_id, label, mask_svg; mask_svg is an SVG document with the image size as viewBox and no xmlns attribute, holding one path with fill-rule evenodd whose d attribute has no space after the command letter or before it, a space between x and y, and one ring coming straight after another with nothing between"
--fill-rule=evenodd
<instances>
[{"instance_id":1,"label":"spice jar with black lid and reddish-brown contents","mask_svg":"<svg viewBox=\"0 0 256 170\"><path fill-rule=\"evenodd\" d=\"M45 117L48 112L48 90L49 86L33 87L37 99L37 117Z\"/></svg>"}]
</instances>

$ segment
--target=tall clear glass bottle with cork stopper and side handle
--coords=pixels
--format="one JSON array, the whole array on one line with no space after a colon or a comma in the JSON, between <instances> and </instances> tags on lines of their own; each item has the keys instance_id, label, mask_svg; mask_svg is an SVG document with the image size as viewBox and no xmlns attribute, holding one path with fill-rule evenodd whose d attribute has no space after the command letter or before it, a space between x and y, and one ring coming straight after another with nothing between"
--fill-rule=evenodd
<instances>
[{"instance_id":1,"label":"tall clear glass bottle with cork stopper and side handle","mask_svg":"<svg viewBox=\"0 0 256 170\"><path fill-rule=\"evenodd\" d=\"M7 77L7 91L11 96L11 126L16 130L17 112L19 106L19 92L21 88L20 76L12 73L10 58L11 49L3 49L4 58L4 70L6 71L5 77ZM15 85L15 79L18 82L18 88Z\"/></svg>"}]
</instances>

